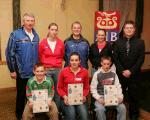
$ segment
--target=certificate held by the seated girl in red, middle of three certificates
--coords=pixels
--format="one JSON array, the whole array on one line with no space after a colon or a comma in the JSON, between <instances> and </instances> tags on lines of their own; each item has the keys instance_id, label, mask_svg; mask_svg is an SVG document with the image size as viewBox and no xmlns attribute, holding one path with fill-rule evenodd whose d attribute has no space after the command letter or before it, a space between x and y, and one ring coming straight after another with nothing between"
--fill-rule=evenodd
<instances>
[{"instance_id":1,"label":"certificate held by the seated girl in red, middle of three certificates","mask_svg":"<svg viewBox=\"0 0 150 120\"><path fill-rule=\"evenodd\" d=\"M82 104L83 84L68 84L68 101L70 105Z\"/></svg>"}]
</instances>

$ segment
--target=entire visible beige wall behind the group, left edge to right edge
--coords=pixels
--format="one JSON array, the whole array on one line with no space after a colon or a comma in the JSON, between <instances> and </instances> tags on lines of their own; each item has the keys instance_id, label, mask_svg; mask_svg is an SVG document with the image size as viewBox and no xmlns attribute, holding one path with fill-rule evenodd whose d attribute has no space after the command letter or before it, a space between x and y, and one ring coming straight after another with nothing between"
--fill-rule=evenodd
<instances>
[{"instance_id":1,"label":"entire visible beige wall behind the group, left edge to right edge","mask_svg":"<svg viewBox=\"0 0 150 120\"><path fill-rule=\"evenodd\" d=\"M47 35L47 26L51 22L59 25L59 37L63 40L70 35L70 25L73 21L80 21L83 26L82 34L90 43L93 42L94 12L98 10L98 0L65 0L64 9L62 0L21 0L21 15L32 12L36 17L36 30L40 38ZM150 51L150 1L144 0L144 29L142 38L146 43L146 51ZM129 19L134 20L135 0L132 2ZM4 51L8 36L12 31L12 0L0 0L0 39L2 60L5 61ZM150 68L150 55L146 56L143 68ZM15 80L9 76L6 65L0 65L0 88L15 86Z\"/></svg>"}]
</instances>

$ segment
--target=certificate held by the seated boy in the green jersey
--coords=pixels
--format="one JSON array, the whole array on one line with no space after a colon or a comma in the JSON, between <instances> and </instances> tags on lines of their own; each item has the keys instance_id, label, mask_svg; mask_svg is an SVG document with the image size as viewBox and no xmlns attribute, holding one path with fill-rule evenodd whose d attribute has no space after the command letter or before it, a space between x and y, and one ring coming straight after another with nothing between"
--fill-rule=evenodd
<instances>
[{"instance_id":1,"label":"certificate held by the seated boy in the green jersey","mask_svg":"<svg viewBox=\"0 0 150 120\"><path fill-rule=\"evenodd\" d=\"M32 91L33 100L33 113L48 112L48 90L33 90Z\"/></svg>"}]
</instances>

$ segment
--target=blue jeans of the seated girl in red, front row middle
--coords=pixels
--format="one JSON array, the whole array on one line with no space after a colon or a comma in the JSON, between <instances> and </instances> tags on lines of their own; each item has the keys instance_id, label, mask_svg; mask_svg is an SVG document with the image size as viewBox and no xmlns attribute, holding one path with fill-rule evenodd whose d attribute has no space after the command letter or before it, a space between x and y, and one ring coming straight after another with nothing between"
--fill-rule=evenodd
<instances>
[{"instance_id":1,"label":"blue jeans of the seated girl in red, front row middle","mask_svg":"<svg viewBox=\"0 0 150 120\"><path fill-rule=\"evenodd\" d=\"M81 105L65 105L64 101L61 100L61 103L63 105L65 120L76 120L78 117L79 120L89 120L86 102Z\"/></svg>"}]
</instances>

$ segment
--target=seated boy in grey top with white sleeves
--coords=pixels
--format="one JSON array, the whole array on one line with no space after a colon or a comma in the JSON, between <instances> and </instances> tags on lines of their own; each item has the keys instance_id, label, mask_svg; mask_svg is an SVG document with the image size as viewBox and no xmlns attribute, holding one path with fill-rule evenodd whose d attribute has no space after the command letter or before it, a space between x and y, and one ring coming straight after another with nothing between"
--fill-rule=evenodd
<instances>
[{"instance_id":1,"label":"seated boy in grey top with white sleeves","mask_svg":"<svg viewBox=\"0 0 150 120\"><path fill-rule=\"evenodd\" d=\"M102 67L99 68L92 78L90 85L92 96L95 98L95 111L97 120L106 120L105 116L105 101L104 101L104 85L117 86L118 105L117 120L126 120L126 107L123 102L123 94L121 85L115 72L110 69L112 62L111 57L103 56L101 58Z\"/></svg>"}]
</instances>

